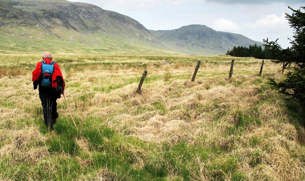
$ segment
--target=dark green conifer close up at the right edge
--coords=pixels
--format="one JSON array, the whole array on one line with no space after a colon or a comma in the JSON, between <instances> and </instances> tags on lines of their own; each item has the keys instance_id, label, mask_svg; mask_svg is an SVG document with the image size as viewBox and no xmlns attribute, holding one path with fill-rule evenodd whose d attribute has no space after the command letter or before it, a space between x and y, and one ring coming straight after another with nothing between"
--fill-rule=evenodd
<instances>
[{"instance_id":1,"label":"dark green conifer close up at the right edge","mask_svg":"<svg viewBox=\"0 0 305 181\"><path fill-rule=\"evenodd\" d=\"M290 27L294 29L294 40L290 41L291 48L282 49L277 40L264 40L265 49L273 58L272 61L280 63L288 70L283 80L276 82L274 78L270 78L270 84L305 108L305 7L298 10L288 8L293 12L292 15L285 13Z\"/></svg>"}]
</instances>

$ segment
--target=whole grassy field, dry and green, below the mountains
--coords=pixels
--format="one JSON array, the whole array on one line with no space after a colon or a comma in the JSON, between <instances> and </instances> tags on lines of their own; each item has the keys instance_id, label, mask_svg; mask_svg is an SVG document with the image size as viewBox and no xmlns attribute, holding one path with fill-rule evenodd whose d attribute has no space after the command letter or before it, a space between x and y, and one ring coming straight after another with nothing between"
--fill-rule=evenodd
<instances>
[{"instance_id":1,"label":"whole grassy field, dry and green, below the mountains","mask_svg":"<svg viewBox=\"0 0 305 181\"><path fill-rule=\"evenodd\" d=\"M78 128L61 98L49 133L40 57L0 56L0 180L305 180L305 114L268 86L268 60L259 77L261 60L234 58L229 80L227 56L54 55Z\"/></svg>"}]
</instances>

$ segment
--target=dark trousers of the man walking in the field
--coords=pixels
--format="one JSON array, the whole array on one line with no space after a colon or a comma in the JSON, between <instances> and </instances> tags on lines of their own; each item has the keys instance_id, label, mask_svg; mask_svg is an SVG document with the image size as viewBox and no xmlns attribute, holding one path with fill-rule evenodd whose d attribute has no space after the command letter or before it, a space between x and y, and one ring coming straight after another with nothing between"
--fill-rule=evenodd
<instances>
[{"instance_id":1,"label":"dark trousers of the man walking in the field","mask_svg":"<svg viewBox=\"0 0 305 181\"><path fill-rule=\"evenodd\" d=\"M41 91L39 90L39 98L43 107L43 119L46 126L53 128L58 118L57 113L57 97L52 91Z\"/></svg>"}]
</instances>

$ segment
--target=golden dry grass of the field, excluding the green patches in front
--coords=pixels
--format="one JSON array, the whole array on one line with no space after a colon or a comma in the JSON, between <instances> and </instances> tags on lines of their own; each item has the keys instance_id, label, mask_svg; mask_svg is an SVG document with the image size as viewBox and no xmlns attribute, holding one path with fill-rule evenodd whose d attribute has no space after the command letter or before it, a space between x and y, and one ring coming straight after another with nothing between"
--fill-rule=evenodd
<instances>
[{"instance_id":1,"label":"golden dry grass of the field, excluding the green patches in front","mask_svg":"<svg viewBox=\"0 0 305 181\"><path fill-rule=\"evenodd\" d=\"M165 58L73 56L68 62L69 56L61 55L58 60L66 79L65 95L80 127L93 117L98 120L90 122L92 128L105 125L116 134L157 147L186 143L205 150L220 149L215 159L193 160L199 171L190 167L192 176L197 173L192 180L234 180L224 169L214 169L230 157L237 159L235 169L244 173L245 180L305 179L304 127L296 126L283 99L266 84L267 74L280 78L280 67L265 61L263 77L258 77L260 60L237 58L229 80L230 57ZM201 67L195 82L190 82L198 59ZM4 65L11 63L1 65L5 73L0 75L0 160L8 157L11 164L40 164L39 160L73 157L48 151L46 140L52 135L40 131L40 100L30 81L34 67L11 69ZM148 70L148 76L139 95L135 91L143 70ZM64 99L58 104L60 117L68 119ZM77 138L76 144L90 155L78 157L78 163L90 166L94 154L90 143ZM151 152L131 144L124 147L134 155L133 167L143 169ZM56 172L55 167L51 169ZM168 180L181 179L174 170L167 174ZM113 170L101 168L77 179L118 177ZM29 178L35 180L35 176Z\"/></svg>"}]
</instances>

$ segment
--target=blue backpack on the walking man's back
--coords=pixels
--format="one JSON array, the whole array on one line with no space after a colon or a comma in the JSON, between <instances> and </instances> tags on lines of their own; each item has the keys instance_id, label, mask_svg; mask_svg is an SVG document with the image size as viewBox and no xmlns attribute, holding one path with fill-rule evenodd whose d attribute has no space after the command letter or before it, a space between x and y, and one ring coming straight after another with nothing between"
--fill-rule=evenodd
<instances>
[{"instance_id":1,"label":"blue backpack on the walking man's back","mask_svg":"<svg viewBox=\"0 0 305 181\"><path fill-rule=\"evenodd\" d=\"M54 71L55 61L52 61L50 64L46 64L45 61L41 60L41 86L42 87L52 87L52 75ZM44 75L48 74L48 75Z\"/></svg>"}]
</instances>

